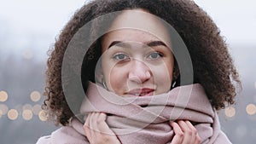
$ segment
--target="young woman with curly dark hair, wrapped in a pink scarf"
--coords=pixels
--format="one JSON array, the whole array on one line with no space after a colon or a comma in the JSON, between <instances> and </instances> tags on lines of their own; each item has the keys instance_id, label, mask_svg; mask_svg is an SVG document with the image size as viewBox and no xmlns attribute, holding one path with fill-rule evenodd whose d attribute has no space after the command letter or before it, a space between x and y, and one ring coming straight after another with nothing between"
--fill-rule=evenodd
<instances>
[{"instance_id":1,"label":"young woman with curly dark hair, wrapped in a pink scarf","mask_svg":"<svg viewBox=\"0 0 256 144\"><path fill-rule=\"evenodd\" d=\"M191 1L87 3L46 73L44 109L62 127L38 143L230 143L216 111L234 103L238 73Z\"/></svg>"}]
</instances>

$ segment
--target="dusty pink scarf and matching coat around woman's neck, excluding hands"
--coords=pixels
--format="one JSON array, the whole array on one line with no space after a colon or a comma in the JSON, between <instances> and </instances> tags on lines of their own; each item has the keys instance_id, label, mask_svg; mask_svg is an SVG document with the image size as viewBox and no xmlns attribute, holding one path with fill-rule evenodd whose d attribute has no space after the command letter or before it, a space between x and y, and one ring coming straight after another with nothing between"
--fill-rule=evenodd
<instances>
[{"instance_id":1,"label":"dusty pink scarf and matching coat around woman's neck, excluding hands","mask_svg":"<svg viewBox=\"0 0 256 144\"><path fill-rule=\"evenodd\" d=\"M231 143L220 130L217 112L200 84L180 86L162 95L121 97L90 83L86 95L81 113L108 113L108 126L122 144L166 144L174 135L168 123L177 119L194 124L203 144ZM89 143L83 135L83 124L73 118L71 126L55 131L50 139L60 144Z\"/></svg>"}]
</instances>

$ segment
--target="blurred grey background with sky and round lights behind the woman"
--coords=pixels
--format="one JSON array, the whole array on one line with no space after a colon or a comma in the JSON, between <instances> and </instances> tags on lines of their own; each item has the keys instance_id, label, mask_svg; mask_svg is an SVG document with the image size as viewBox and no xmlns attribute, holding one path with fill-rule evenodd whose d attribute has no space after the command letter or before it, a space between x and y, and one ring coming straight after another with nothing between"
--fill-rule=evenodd
<instances>
[{"instance_id":1,"label":"blurred grey background with sky and round lights behind the woman","mask_svg":"<svg viewBox=\"0 0 256 144\"><path fill-rule=\"evenodd\" d=\"M84 0L0 0L0 143L32 144L57 129L47 122L44 72L47 51ZM256 141L256 1L195 0L217 23L243 89L219 112L234 144Z\"/></svg>"}]
</instances>

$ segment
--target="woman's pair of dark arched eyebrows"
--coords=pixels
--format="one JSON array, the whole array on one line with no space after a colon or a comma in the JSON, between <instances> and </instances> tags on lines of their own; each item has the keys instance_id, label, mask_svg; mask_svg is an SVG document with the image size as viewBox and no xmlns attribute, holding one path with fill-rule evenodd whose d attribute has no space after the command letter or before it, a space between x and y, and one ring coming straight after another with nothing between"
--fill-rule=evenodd
<instances>
[{"instance_id":1,"label":"woman's pair of dark arched eyebrows","mask_svg":"<svg viewBox=\"0 0 256 144\"><path fill-rule=\"evenodd\" d=\"M113 41L112 43L110 43L110 45L108 46L108 49L111 48L113 45L119 44L119 47L131 47L131 45L129 43L125 43L122 41ZM147 43L145 43L146 45L148 45L148 47L155 47L155 46L166 46L166 43L163 43L162 41L149 41Z\"/></svg>"}]
</instances>

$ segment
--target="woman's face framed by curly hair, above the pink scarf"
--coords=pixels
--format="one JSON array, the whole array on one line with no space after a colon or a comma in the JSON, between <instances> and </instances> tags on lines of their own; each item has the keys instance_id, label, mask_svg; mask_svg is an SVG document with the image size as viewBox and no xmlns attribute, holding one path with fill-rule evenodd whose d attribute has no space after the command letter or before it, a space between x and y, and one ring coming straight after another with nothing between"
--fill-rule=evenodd
<instances>
[{"instance_id":1,"label":"woman's face framed by curly hair, above the pink scarf","mask_svg":"<svg viewBox=\"0 0 256 144\"><path fill-rule=\"evenodd\" d=\"M124 28L127 26L133 28ZM122 96L169 91L173 55L165 26L136 9L120 14L110 29L118 30L102 38L102 75L108 90Z\"/></svg>"}]
</instances>

